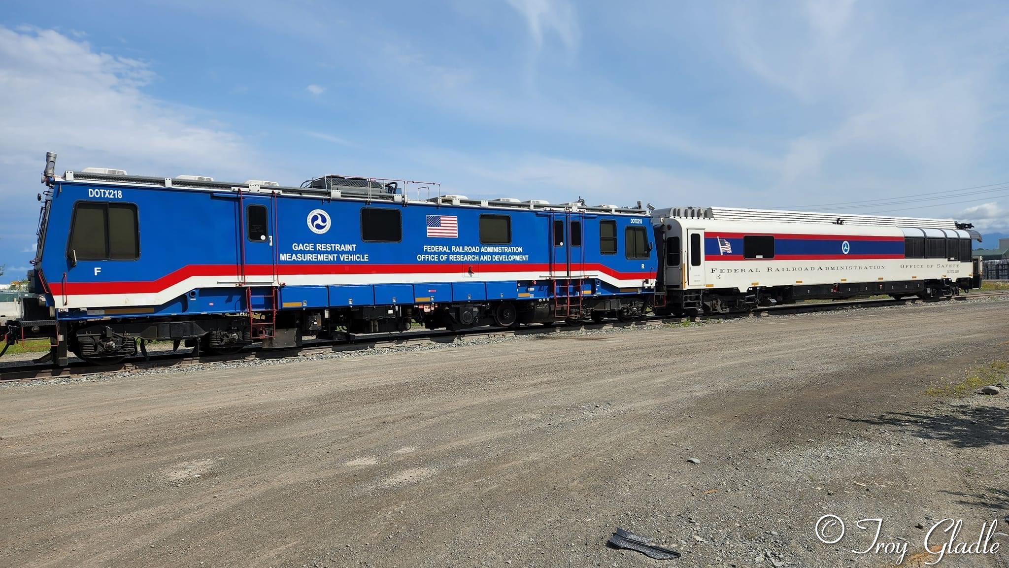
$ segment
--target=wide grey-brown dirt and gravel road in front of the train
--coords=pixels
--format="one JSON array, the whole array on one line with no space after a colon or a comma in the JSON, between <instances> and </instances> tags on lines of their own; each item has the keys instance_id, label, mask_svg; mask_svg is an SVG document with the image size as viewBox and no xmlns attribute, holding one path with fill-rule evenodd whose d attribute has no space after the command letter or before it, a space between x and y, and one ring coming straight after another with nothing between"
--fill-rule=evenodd
<instances>
[{"instance_id":1,"label":"wide grey-brown dirt and gravel road in front of the train","mask_svg":"<svg viewBox=\"0 0 1009 568\"><path fill-rule=\"evenodd\" d=\"M916 524L1009 532L1006 394L924 393L1009 358L1007 315L948 303L4 387L0 566L892 565L813 524L883 518L908 557ZM683 557L608 549L616 527ZM941 565L1004 566L1002 540Z\"/></svg>"}]
</instances>

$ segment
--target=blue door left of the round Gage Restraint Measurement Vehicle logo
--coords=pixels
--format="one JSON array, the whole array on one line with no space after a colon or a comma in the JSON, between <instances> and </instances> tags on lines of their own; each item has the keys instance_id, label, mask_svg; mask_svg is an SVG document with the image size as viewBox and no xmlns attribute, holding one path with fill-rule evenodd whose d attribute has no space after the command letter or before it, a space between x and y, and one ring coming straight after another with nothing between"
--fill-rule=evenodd
<instances>
[{"instance_id":1,"label":"blue door left of the round Gage Restraint Measurement Vehicle logo","mask_svg":"<svg viewBox=\"0 0 1009 568\"><path fill-rule=\"evenodd\" d=\"M275 202L267 197L246 197L242 204L241 277L247 285L272 286L276 273Z\"/></svg>"}]
</instances>

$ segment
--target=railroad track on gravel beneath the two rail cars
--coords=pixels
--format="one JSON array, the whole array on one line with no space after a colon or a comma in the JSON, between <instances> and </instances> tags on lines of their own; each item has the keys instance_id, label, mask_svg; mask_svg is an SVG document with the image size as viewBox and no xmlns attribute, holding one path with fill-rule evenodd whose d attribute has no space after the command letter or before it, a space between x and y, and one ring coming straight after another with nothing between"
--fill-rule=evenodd
<instances>
[{"instance_id":1,"label":"railroad track on gravel beneath the two rail cars","mask_svg":"<svg viewBox=\"0 0 1009 568\"><path fill-rule=\"evenodd\" d=\"M970 295L954 297L955 301L970 301L982 298L999 296L1009 296L1009 291L981 292ZM567 324L547 324L532 325L517 329L480 327L459 331L448 330L418 330L399 333L368 334L347 336L344 339L336 340L310 340L300 348L292 349L270 349L263 350L258 344L252 344L242 349L238 353L229 355L194 355L192 351L154 351L144 358L141 356L131 357L121 363L114 365L94 365L84 361L72 360L65 366L53 366L51 363L39 363L35 361L12 362L4 364L0 362L0 382L17 380L38 380L46 378L60 378L67 376L82 376L88 374L101 374L109 372L122 372L130 370L143 370L159 367L185 366L198 363L241 361L245 359L277 359L291 357L294 355L311 355L322 352L353 351L361 349L373 349L379 347L395 347L402 345L415 345L422 343L452 343L460 337L501 337L516 335L543 335L570 331L573 329L605 329L621 327L641 327L656 324L669 324L686 321L704 321L712 319L734 319L752 318L775 315L806 314L813 312L832 312L838 310L853 310L862 308L879 308L885 306L900 306L903 304L915 304L924 301L916 298L904 300L855 300L846 302L823 302L823 303L800 303L784 306L770 306L758 308L748 314L711 314L697 317L676 317L676 316L648 316L647 318L635 322L603 322L599 324L586 323L578 326Z\"/></svg>"}]
</instances>

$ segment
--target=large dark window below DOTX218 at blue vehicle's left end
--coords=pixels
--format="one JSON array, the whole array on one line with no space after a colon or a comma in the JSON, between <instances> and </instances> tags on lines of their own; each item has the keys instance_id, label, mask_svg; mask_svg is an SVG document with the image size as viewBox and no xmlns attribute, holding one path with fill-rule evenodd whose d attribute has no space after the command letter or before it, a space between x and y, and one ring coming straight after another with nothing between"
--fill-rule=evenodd
<instances>
[{"instance_id":1,"label":"large dark window below DOTX218 at blue vehicle's left end","mask_svg":"<svg viewBox=\"0 0 1009 568\"><path fill-rule=\"evenodd\" d=\"M70 233L70 250L78 260L139 258L136 206L131 203L77 204Z\"/></svg>"}]
</instances>

